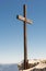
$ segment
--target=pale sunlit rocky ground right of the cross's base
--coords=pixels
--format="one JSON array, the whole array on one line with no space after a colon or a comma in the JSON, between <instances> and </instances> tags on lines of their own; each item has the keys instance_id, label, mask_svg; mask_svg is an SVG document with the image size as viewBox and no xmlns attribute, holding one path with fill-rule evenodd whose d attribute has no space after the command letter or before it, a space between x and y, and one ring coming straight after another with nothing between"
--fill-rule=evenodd
<instances>
[{"instance_id":1,"label":"pale sunlit rocky ground right of the cross's base","mask_svg":"<svg viewBox=\"0 0 46 71\"><path fill-rule=\"evenodd\" d=\"M33 59L33 60L28 60L28 63L35 66L23 71L46 71L46 59Z\"/></svg>"}]
</instances>

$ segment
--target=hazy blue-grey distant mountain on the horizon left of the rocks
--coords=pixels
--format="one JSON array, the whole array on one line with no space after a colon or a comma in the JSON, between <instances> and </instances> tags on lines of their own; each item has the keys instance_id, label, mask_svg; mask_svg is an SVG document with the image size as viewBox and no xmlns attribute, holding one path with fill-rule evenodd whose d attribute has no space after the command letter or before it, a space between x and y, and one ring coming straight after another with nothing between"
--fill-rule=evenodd
<instances>
[{"instance_id":1,"label":"hazy blue-grey distant mountain on the horizon left of the rocks","mask_svg":"<svg viewBox=\"0 0 46 71\"><path fill-rule=\"evenodd\" d=\"M16 64L0 64L0 71L19 71Z\"/></svg>"}]
</instances>

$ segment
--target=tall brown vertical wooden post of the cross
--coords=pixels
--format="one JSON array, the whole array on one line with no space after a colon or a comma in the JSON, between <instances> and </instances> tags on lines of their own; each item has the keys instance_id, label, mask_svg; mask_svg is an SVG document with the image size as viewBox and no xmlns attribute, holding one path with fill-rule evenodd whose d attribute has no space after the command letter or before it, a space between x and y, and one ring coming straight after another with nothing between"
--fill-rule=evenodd
<instances>
[{"instance_id":1,"label":"tall brown vertical wooden post of the cross","mask_svg":"<svg viewBox=\"0 0 46 71\"><path fill-rule=\"evenodd\" d=\"M26 44L26 5L23 5L24 11L24 69L27 69L27 44Z\"/></svg>"}]
</instances>

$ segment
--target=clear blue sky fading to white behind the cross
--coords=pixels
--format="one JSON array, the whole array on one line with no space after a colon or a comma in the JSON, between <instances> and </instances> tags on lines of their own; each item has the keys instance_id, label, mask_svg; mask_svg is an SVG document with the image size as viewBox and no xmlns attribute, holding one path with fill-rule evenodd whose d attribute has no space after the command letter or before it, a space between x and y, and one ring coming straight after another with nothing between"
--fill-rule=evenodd
<instances>
[{"instance_id":1,"label":"clear blue sky fading to white behind the cross","mask_svg":"<svg viewBox=\"0 0 46 71\"><path fill-rule=\"evenodd\" d=\"M16 15L33 20L27 26L28 59L46 58L46 0L0 0L0 63L23 60L23 22Z\"/></svg>"}]
</instances>

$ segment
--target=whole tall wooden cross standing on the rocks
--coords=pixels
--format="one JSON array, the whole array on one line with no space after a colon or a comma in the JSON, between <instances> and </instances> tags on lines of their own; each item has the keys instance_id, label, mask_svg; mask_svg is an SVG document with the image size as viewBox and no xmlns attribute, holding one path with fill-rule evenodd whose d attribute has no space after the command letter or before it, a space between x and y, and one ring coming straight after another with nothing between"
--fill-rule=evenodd
<instances>
[{"instance_id":1,"label":"whole tall wooden cross standing on the rocks","mask_svg":"<svg viewBox=\"0 0 46 71\"><path fill-rule=\"evenodd\" d=\"M23 12L24 16L18 15L16 17L24 22L24 69L27 69L28 60L27 60L27 47L26 47L26 23L32 24L32 21L26 19L26 5L25 4L23 5L23 10L24 10Z\"/></svg>"}]
</instances>

